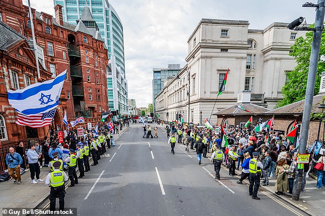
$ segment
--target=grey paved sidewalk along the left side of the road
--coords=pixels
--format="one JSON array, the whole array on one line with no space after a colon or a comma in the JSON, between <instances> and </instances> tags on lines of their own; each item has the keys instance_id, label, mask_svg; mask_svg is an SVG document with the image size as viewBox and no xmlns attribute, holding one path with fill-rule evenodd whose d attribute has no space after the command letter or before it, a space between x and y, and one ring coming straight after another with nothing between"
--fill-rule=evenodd
<instances>
[{"instance_id":1,"label":"grey paved sidewalk along the left side of the road","mask_svg":"<svg viewBox=\"0 0 325 216\"><path fill-rule=\"evenodd\" d=\"M123 127L119 130L119 134L114 135L114 141L118 141L120 135L126 131L127 127ZM92 164L92 157L90 156L90 164ZM48 200L50 195L50 189L45 185L45 179L49 173L50 168L42 167L40 169L40 179L44 179L44 182L32 184L30 179L30 172L27 169L22 175L22 184L17 185L13 183L13 180L0 183L0 208L27 208L34 209L39 204ZM77 175L79 176L78 168ZM88 174L90 172L86 172ZM69 185L70 180L66 183ZM1 214L3 212L1 211ZM23 215L23 214L21 214Z\"/></svg>"}]
</instances>

